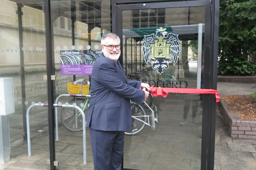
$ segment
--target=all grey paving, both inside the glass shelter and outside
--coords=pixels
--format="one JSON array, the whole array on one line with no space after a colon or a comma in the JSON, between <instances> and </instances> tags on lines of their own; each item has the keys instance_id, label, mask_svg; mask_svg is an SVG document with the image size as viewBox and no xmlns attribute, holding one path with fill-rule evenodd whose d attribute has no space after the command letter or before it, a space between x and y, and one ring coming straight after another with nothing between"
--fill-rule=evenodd
<instances>
[{"instance_id":1,"label":"all grey paving, both inside the glass shelter and outside","mask_svg":"<svg viewBox=\"0 0 256 170\"><path fill-rule=\"evenodd\" d=\"M251 94L254 84L218 83L218 91L223 94ZM153 131L145 127L136 136L125 136L124 167L137 169L200 169L202 126L191 123L191 111L187 124L180 126L183 118L184 98L169 95L161 100L162 111L159 124ZM175 98L173 98L175 96ZM189 98L189 95L187 96ZM192 96L191 99L198 98ZM65 101L60 101L65 102ZM164 105L165 103L165 105ZM163 107L164 106L164 107ZM200 105L197 117L200 121ZM59 112L60 113L60 112ZM22 132L20 113L10 116L11 161L0 165L0 169L50 169L49 138L46 108L35 108L31 113L32 157L28 157L27 143L20 138ZM87 131L88 164L82 163L82 133L70 132L59 125L60 141L56 141L57 169L93 169L90 136ZM256 140L232 139L217 107L215 170L252 170L256 169Z\"/></svg>"}]
</instances>

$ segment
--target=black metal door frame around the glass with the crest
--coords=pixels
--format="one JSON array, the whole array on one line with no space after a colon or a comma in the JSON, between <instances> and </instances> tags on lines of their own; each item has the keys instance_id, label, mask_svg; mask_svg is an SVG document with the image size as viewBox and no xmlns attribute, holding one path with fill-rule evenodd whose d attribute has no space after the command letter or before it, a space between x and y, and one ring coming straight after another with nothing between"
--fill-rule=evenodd
<instances>
[{"instance_id":1,"label":"black metal door frame around the glass with the crest","mask_svg":"<svg viewBox=\"0 0 256 170\"><path fill-rule=\"evenodd\" d=\"M204 74L203 87L217 89L218 73L218 37L219 37L219 1L182 1L162 2L161 0L112 0L112 32L120 37L122 44L122 11L156 8L205 7L204 33ZM154 2L154 3L153 3ZM136 3L136 4L134 4ZM118 24L119 23L119 24ZM121 24L120 24L121 23ZM208 56L208 57L206 57ZM123 65L123 52L119 57ZM201 169L214 169L215 131L216 131L216 99L214 94L203 94ZM122 167L122 169L124 169Z\"/></svg>"}]
</instances>

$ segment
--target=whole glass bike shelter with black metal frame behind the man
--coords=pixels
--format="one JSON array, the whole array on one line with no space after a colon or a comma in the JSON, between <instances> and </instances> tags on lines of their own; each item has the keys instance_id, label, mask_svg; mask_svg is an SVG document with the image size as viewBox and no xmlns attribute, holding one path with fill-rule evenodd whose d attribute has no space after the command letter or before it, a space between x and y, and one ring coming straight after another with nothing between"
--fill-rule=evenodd
<instances>
[{"instance_id":1,"label":"whole glass bike shelter with black metal frame behind the man","mask_svg":"<svg viewBox=\"0 0 256 170\"><path fill-rule=\"evenodd\" d=\"M21 80L18 103L22 115L20 127L12 124L10 133L12 137L17 129L23 129L24 141L29 133L32 157L24 154L28 160L47 162L50 169L93 168L90 134L88 128L87 132L81 130L84 119L76 116L78 112L80 116L86 114L89 90L69 87L70 82L82 78L90 82L90 77L86 71L75 72L78 67L71 70L63 66L93 65L105 33L120 37L119 61L128 79L160 88L217 89L219 0L8 3L8 7L17 8L13 15L18 20L20 76L16 79ZM33 56L42 64L30 63ZM35 87L28 84L28 63L45 67L39 74L30 72ZM88 84L82 85L89 89ZM124 138L122 169L214 169L214 94L151 95L143 104L133 102L131 109L132 129ZM75 116L70 118L72 114ZM15 115L9 116L11 122L16 120ZM74 125L63 126L63 122L68 125L73 119ZM78 132L68 130L77 127Z\"/></svg>"}]
</instances>

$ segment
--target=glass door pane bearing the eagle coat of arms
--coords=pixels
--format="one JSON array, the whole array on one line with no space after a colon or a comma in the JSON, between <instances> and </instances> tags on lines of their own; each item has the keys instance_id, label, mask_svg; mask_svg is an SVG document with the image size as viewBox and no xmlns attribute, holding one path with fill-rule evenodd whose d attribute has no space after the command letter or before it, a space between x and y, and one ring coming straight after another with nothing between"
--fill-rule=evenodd
<instances>
[{"instance_id":1,"label":"glass door pane bearing the eagle coat of arms","mask_svg":"<svg viewBox=\"0 0 256 170\"><path fill-rule=\"evenodd\" d=\"M140 20L129 20L134 11L123 12L127 78L156 87L202 88L205 8L147 12L140 10ZM132 103L132 129L124 140L124 168L201 169L201 96L169 93L167 98L150 96L146 103L153 110L157 108L157 113L152 114L145 104Z\"/></svg>"}]
</instances>

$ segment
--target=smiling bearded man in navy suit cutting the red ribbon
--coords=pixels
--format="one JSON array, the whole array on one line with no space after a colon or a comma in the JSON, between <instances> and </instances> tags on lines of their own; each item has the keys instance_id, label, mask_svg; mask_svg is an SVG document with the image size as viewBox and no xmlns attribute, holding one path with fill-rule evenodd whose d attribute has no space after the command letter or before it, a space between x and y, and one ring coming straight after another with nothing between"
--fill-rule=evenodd
<instances>
[{"instance_id":1,"label":"smiling bearded man in navy suit cutting the red ribbon","mask_svg":"<svg viewBox=\"0 0 256 170\"><path fill-rule=\"evenodd\" d=\"M142 103L150 86L128 80L118 61L120 38L108 33L101 38L102 54L91 76L91 100L87 127L91 136L95 170L121 170L124 131L131 129L131 101Z\"/></svg>"}]
</instances>

